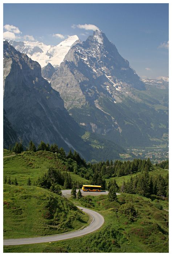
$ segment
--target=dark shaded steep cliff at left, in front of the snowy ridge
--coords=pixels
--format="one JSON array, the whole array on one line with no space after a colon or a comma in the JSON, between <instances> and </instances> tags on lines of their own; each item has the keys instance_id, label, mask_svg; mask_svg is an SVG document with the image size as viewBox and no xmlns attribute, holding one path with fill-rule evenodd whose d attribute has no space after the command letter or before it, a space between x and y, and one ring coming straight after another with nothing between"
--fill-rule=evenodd
<instances>
[{"instance_id":1,"label":"dark shaded steep cliff at left, in front of the snowy ridge","mask_svg":"<svg viewBox=\"0 0 172 256\"><path fill-rule=\"evenodd\" d=\"M54 69L50 64L47 68ZM39 63L7 41L4 41L4 110L6 148L20 139L24 146L30 140L36 146L41 140L57 143L66 151L76 150L86 160L116 159L119 152L124 152L122 147L102 137L96 137L95 148L91 146L85 138L94 141L95 136L92 139L91 133L85 135L85 130L69 115L59 92L42 77Z\"/></svg>"}]
</instances>

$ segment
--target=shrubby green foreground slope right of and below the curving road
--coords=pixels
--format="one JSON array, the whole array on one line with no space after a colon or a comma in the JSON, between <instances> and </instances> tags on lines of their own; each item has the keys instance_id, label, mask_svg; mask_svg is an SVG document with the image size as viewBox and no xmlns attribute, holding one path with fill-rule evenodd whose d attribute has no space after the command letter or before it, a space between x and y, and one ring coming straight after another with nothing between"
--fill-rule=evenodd
<instances>
[{"instance_id":1,"label":"shrubby green foreground slope right of and below the curving road","mask_svg":"<svg viewBox=\"0 0 172 256\"><path fill-rule=\"evenodd\" d=\"M108 202L106 197L73 199L103 215L105 224L97 232L53 243L6 246L4 252L168 252L168 212L139 195L118 195L119 202ZM128 202L137 210L135 222L121 213L121 205Z\"/></svg>"}]
</instances>

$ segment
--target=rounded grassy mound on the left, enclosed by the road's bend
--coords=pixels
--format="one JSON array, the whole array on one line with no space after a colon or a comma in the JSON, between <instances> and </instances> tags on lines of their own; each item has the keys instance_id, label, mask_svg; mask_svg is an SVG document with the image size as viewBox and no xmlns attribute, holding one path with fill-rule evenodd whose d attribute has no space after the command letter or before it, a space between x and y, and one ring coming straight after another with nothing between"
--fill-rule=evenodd
<instances>
[{"instance_id":1,"label":"rounded grassy mound on the left, enclosed by the road's bend","mask_svg":"<svg viewBox=\"0 0 172 256\"><path fill-rule=\"evenodd\" d=\"M89 217L69 200L35 186L4 185L4 238L64 233Z\"/></svg>"}]
</instances>

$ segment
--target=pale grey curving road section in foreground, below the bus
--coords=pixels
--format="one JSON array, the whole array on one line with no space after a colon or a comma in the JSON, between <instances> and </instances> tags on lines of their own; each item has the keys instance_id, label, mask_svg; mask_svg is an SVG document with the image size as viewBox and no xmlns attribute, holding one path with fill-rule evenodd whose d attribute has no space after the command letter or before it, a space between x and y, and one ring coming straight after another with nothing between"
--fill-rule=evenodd
<instances>
[{"instance_id":1,"label":"pale grey curving road section in foreground, below the bus","mask_svg":"<svg viewBox=\"0 0 172 256\"><path fill-rule=\"evenodd\" d=\"M69 238L74 238L78 236L83 236L85 234L89 234L97 229L99 229L103 223L104 218L101 214L94 212L93 210L89 210L80 206L77 206L79 209L83 210L83 212L89 214L92 218L91 224L86 228L76 230L70 233L57 234L52 236L44 236L44 237L33 237L33 238L19 238L19 239L5 239L4 245L20 245L20 244L37 244L37 243L47 243L65 240Z\"/></svg>"}]
</instances>

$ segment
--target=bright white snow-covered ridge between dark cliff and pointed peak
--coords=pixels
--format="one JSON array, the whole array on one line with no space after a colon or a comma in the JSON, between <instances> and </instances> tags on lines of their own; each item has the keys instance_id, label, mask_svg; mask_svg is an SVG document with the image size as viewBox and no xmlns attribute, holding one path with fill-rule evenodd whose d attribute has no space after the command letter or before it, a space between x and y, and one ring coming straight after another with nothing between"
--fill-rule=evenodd
<instances>
[{"instance_id":1,"label":"bright white snow-covered ridge between dark cliff and pointed peak","mask_svg":"<svg viewBox=\"0 0 172 256\"><path fill-rule=\"evenodd\" d=\"M56 46L46 45L41 42L29 41L8 41L17 51L25 53L33 61L37 61L41 67L51 63L54 67L58 67L64 60L65 55L71 46L79 40L77 35L69 36Z\"/></svg>"}]
</instances>

